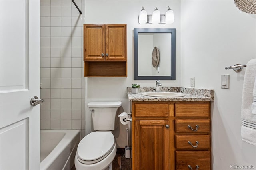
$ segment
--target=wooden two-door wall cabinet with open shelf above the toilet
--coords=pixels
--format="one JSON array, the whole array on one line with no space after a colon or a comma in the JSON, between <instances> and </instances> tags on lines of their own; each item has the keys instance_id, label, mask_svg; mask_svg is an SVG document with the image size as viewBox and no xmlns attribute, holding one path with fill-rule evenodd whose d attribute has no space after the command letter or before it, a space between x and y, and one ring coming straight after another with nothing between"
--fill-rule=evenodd
<instances>
[{"instance_id":1,"label":"wooden two-door wall cabinet with open shelf above the toilet","mask_svg":"<svg viewBox=\"0 0 256 170\"><path fill-rule=\"evenodd\" d=\"M127 24L84 24L84 77L127 77Z\"/></svg>"}]
</instances>

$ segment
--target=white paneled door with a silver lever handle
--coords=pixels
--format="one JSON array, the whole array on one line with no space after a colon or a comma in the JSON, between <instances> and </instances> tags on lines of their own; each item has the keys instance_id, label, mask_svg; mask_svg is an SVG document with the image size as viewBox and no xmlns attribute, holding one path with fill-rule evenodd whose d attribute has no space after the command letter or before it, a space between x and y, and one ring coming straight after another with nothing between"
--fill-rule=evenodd
<instances>
[{"instance_id":1,"label":"white paneled door with a silver lever handle","mask_svg":"<svg viewBox=\"0 0 256 170\"><path fill-rule=\"evenodd\" d=\"M0 0L0 170L40 169L40 0Z\"/></svg>"}]
</instances>

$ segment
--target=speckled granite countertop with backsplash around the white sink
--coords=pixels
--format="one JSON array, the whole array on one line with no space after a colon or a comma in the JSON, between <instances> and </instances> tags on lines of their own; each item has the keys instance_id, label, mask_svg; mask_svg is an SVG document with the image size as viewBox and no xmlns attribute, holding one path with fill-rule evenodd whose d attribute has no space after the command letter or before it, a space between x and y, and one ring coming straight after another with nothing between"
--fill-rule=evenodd
<instances>
[{"instance_id":1,"label":"speckled granite countertop with backsplash around the white sink","mask_svg":"<svg viewBox=\"0 0 256 170\"><path fill-rule=\"evenodd\" d=\"M160 91L184 93L183 97L151 97L141 93L154 91L154 87L140 87L139 93L131 93L131 87L127 87L129 101L214 101L214 90L196 89L188 87L160 87Z\"/></svg>"}]
</instances>

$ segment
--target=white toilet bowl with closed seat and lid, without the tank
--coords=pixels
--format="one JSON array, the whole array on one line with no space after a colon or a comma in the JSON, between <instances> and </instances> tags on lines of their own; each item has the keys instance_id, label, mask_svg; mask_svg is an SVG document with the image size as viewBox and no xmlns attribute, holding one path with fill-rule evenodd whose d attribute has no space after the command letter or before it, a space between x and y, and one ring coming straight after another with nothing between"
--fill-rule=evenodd
<instances>
[{"instance_id":1,"label":"white toilet bowl with closed seat and lid, without the tank","mask_svg":"<svg viewBox=\"0 0 256 170\"><path fill-rule=\"evenodd\" d=\"M91 132L78 144L75 166L77 170L105 170L115 156L116 143L111 131Z\"/></svg>"}]
</instances>

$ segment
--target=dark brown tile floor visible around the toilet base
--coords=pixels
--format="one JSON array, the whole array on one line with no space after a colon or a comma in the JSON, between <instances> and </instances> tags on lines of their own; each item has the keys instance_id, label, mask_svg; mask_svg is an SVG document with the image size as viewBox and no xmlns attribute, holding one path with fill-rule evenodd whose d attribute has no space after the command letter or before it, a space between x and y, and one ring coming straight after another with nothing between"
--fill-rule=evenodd
<instances>
[{"instance_id":1,"label":"dark brown tile floor visible around the toilet base","mask_svg":"<svg viewBox=\"0 0 256 170\"><path fill-rule=\"evenodd\" d=\"M71 170L76 170L75 166ZM112 162L112 170L132 170L132 158L126 159L124 157L124 149L117 149Z\"/></svg>"}]
</instances>

